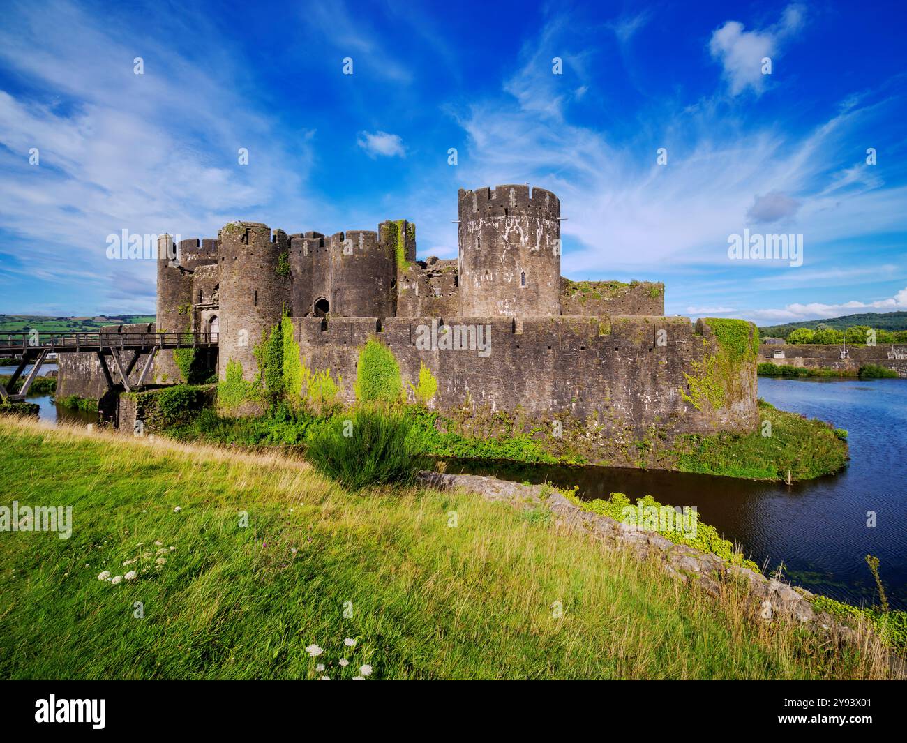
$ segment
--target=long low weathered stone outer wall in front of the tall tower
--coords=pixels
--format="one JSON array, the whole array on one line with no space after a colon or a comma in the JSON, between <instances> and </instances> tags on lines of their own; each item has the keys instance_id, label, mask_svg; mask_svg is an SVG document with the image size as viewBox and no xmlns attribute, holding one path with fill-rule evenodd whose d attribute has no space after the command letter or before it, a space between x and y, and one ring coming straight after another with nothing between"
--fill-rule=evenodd
<instances>
[{"instance_id":1,"label":"long low weathered stone outer wall in front of the tall tower","mask_svg":"<svg viewBox=\"0 0 907 743\"><path fill-rule=\"evenodd\" d=\"M717 341L688 318L551 317L450 318L452 326L491 328L487 356L473 350L421 349L420 328L437 318L389 318L375 332L375 318L336 319L327 330L317 319L294 318L300 355L307 367L343 377L342 398L355 401L356 361L370 335L389 347L405 383L417 382L422 364L438 382L431 405L463 406L528 415L595 418L601 425L644 435L650 425L671 432L752 431L757 424L756 370L719 380L727 406L692 406L685 374L696 376ZM658 331L666 343L658 345Z\"/></svg>"}]
</instances>

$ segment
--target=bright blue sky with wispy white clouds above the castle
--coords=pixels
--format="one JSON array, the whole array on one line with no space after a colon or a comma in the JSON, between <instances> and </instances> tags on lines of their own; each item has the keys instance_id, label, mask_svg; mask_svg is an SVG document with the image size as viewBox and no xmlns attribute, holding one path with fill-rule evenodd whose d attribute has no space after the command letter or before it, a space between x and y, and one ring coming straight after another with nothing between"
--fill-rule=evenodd
<instances>
[{"instance_id":1,"label":"bright blue sky with wispy white clouds above the castle","mask_svg":"<svg viewBox=\"0 0 907 743\"><path fill-rule=\"evenodd\" d=\"M4 0L0 312L153 311L122 230L406 218L450 258L456 190L522 182L565 276L665 281L668 314L907 309L902 2L251 7ZM803 265L728 259L745 229Z\"/></svg>"}]
</instances>

